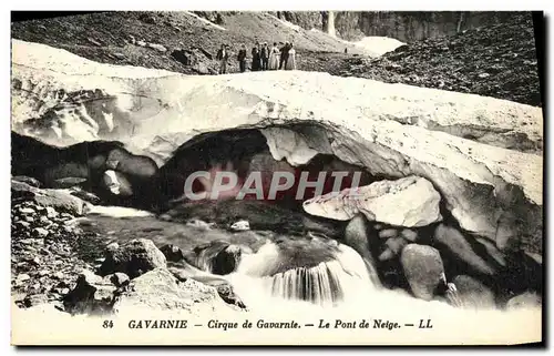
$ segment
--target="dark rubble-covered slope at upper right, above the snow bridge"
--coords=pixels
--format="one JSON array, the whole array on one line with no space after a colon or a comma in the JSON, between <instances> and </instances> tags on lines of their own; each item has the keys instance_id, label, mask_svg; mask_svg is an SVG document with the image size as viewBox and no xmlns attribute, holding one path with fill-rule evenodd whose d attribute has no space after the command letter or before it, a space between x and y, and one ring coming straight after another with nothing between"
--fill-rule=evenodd
<instances>
[{"instance_id":1,"label":"dark rubble-covered slope at upper right, above the snow bridge","mask_svg":"<svg viewBox=\"0 0 554 356\"><path fill-rule=\"evenodd\" d=\"M514 13L507 22L414 41L373 60L346 58L330 72L541 106L533 31L530 13Z\"/></svg>"}]
</instances>

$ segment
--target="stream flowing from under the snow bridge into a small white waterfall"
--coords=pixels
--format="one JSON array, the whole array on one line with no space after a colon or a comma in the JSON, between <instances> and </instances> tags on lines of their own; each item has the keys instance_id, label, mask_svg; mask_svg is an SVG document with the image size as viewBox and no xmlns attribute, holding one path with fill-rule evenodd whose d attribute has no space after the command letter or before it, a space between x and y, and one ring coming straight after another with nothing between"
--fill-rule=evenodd
<instances>
[{"instance_id":1,"label":"stream flowing from under the snow bridge into a small white waterfall","mask_svg":"<svg viewBox=\"0 0 554 356\"><path fill-rule=\"evenodd\" d=\"M423 316L483 318L509 314L499 309L455 308L443 301L425 302L403 289L387 289L376 283L375 268L353 248L321 237L283 236L270 232L228 232L197 224L160 221L155 216L110 208L89 215L86 228L112 236L106 243L124 243L132 238L151 238L184 251L207 242L224 242L243 248L237 269L227 279L250 311L263 311L275 317L295 313L309 315L356 315L406 317L417 311ZM120 217L127 216L127 217ZM209 254L206 254L206 256ZM201 254L196 266L209 272L212 265ZM536 312L536 311L535 311ZM345 314L346 313L346 314ZM489 313L489 314L488 314ZM490 314L495 313L495 314Z\"/></svg>"}]
</instances>

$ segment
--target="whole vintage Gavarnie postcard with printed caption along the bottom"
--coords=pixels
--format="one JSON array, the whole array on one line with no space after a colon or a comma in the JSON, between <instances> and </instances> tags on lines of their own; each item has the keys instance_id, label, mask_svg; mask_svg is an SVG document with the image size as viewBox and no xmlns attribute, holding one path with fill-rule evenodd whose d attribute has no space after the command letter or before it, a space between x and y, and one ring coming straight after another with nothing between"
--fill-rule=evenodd
<instances>
[{"instance_id":1,"label":"whole vintage Gavarnie postcard with printed caption along the bottom","mask_svg":"<svg viewBox=\"0 0 554 356\"><path fill-rule=\"evenodd\" d=\"M12 12L12 345L541 344L542 19Z\"/></svg>"}]
</instances>

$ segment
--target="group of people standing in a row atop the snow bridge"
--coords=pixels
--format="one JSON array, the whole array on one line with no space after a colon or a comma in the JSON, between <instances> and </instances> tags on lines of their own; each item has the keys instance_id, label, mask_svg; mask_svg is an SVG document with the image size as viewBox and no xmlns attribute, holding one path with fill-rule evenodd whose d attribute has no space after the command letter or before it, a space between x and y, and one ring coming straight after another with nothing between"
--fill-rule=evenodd
<instances>
[{"instance_id":1,"label":"group of people standing in a row atop the snow bridge","mask_svg":"<svg viewBox=\"0 0 554 356\"><path fill-rule=\"evenodd\" d=\"M267 42L260 44L256 42L256 45L250 51L250 71L267 71L267 70L296 70L296 50L293 42L274 42L274 45L269 48ZM217 51L216 59L219 61L219 74L225 74L227 72L227 61L229 59L228 48L222 44L222 48ZM238 68L240 73L246 71L248 60L248 52L246 45L243 44L237 54Z\"/></svg>"}]
</instances>

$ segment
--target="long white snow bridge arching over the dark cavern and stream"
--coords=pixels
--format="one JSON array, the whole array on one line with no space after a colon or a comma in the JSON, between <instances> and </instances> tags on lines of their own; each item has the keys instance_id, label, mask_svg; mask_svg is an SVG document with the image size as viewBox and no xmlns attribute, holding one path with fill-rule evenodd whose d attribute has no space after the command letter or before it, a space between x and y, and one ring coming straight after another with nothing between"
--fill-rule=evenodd
<instances>
[{"instance_id":1,"label":"long white snow bridge arching over the dark cavern and stream","mask_svg":"<svg viewBox=\"0 0 554 356\"><path fill-rule=\"evenodd\" d=\"M233 81L225 75L183 77L99 64L17 40L12 47L12 128L17 132L63 145L68 143L62 136L72 142L95 140L113 135L109 128L117 126L117 139L131 152L166 160L170 152L150 151L160 138L179 145L201 132L242 126L261 129L270 136L274 157L288 160L295 152L285 150L287 142L279 132L294 131L318 153L332 154L373 175L424 177L463 230L492 241L502 231L517 236L526 252L542 253L542 157L425 124L480 126L493 136L510 131L538 140L543 123L537 108L299 71L247 73ZM84 74L90 81L82 80ZM68 96L83 90L95 96L81 101L75 96L70 104ZM76 110L75 100L83 103ZM90 104L84 105L85 101ZM99 130L100 123L107 130ZM264 132L276 126L280 131ZM316 131L317 143L304 139ZM279 146L271 144L279 141ZM506 212L510 217L502 218Z\"/></svg>"}]
</instances>

